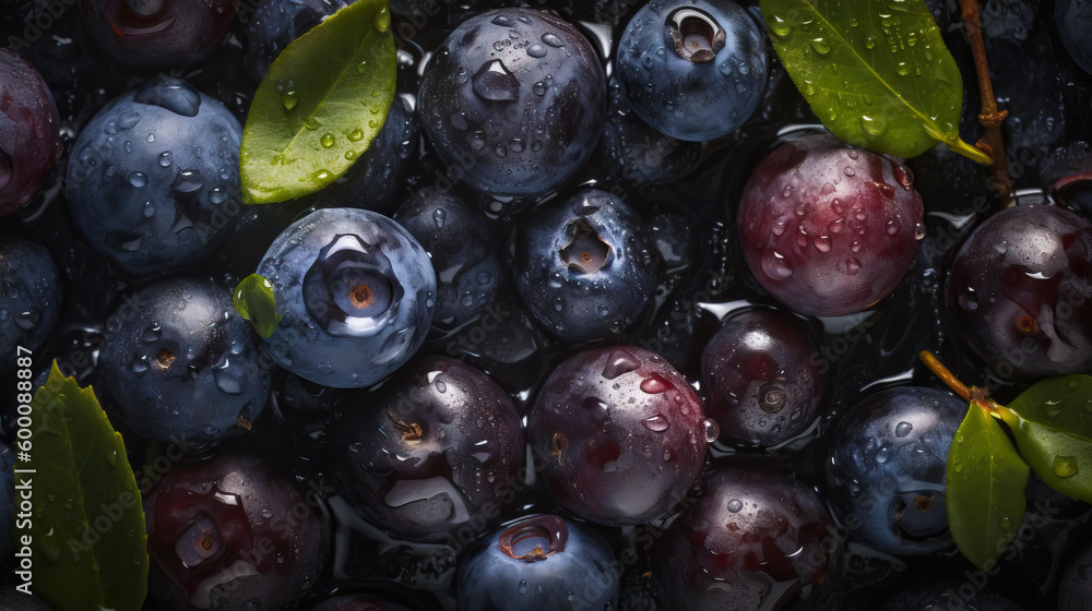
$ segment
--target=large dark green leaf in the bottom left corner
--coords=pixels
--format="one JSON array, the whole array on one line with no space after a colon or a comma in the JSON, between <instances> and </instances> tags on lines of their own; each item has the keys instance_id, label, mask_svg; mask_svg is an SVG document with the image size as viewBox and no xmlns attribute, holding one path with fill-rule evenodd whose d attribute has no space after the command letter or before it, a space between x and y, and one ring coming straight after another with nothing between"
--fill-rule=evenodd
<instances>
[{"instance_id":1,"label":"large dark green leaf in the bottom left corner","mask_svg":"<svg viewBox=\"0 0 1092 611\"><path fill-rule=\"evenodd\" d=\"M147 592L144 511L121 434L88 386L55 362L31 402L33 590L56 611L139 611ZM17 524L17 523L16 523Z\"/></svg>"}]
</instances>

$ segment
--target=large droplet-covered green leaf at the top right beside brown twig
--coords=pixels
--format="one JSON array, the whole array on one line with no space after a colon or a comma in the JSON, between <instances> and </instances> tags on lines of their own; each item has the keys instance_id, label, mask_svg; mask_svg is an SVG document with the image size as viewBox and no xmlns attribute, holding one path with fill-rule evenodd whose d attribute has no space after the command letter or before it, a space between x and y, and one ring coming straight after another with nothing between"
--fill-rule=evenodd
<instances>
[{"instance_id":1,"label":"large droplet-covered green leaf at the top right beside brown twig","mask_svg":"<svg viewBox=\"0 0 1092 611\"><path fill-rule=\"evenodd\" d=\"M770 39L811 110L853 146L909 158L959 139L963 80L922 0L761 0Z\"/></svg>"}]
</instances>

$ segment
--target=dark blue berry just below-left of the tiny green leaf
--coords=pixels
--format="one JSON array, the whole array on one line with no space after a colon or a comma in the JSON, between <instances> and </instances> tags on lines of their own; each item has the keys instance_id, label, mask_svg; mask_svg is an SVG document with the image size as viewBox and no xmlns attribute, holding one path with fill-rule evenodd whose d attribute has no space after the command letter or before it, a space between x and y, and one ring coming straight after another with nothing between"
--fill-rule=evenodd
<instances>
[{"instance_id":1,"label":"dark blue berry just below-left of the tiny green leaf","mask_svg":"<svg viewBox=\"0 0 1092 611\"><path fill-rule=\"evenodd\" d=\"M174 278L124 299L106 323L98 390L138 434L210 444L244 432L270 395L271 367L230 289Z\"/></svg>"}]
</instances>

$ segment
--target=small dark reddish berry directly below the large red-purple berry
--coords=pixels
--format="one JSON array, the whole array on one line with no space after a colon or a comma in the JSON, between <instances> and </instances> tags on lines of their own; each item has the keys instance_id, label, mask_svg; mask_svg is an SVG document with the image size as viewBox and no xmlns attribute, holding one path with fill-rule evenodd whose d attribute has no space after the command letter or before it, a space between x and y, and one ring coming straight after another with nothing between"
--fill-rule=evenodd
<instances>
[{"instance_id":1,"label":"small dark reddish berry directly below the large red-purple berry","mask_svg":"<svg viewBox=\"0 0 1092 611\"><path fill-rule=\"evenodd\" d=\"M734 446L771 447L815 423L827 387L811 332L800 319L756 309L732 315L701 357L705 414Z\"/></svg>"}]
</instances>

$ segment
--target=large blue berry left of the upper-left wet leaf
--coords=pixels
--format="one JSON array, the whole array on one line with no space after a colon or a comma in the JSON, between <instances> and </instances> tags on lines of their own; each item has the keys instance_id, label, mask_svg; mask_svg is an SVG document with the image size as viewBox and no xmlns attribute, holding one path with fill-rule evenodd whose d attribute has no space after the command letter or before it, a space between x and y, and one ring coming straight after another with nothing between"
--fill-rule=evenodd
<instances>
[{"instance_id":1,"label":"large blue berry left of the upper-left wet leaf","mask_svg":"<svg viewBox=\"0 0 1092 611\"><path fill-rule=\"evenodd\" d=\"M240 214L242 125L190 84L157 76L84 127L67 172L69 211L115 273L189 266L230 236Z\"/></svg>"}]
</instances>

